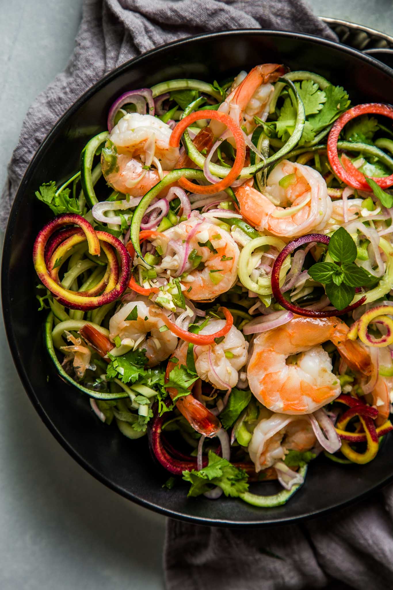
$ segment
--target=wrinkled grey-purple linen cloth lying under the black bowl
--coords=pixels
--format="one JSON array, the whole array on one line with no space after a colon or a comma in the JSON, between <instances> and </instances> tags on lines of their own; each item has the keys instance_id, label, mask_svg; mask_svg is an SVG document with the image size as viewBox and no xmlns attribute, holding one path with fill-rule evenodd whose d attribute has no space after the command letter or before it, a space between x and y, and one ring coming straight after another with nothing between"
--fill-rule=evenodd
<instances>
[{"instance_id":1,"label":"wrinkled grey-purple linen cloth lying under the black bowl","mask_svg":"<svg viewBox=\"0 0 393 590\"><path fill-rule=\"evenodd\" d=\"M75 51L32 104L8 168L0 226L35 150L100 77L157 45L203 31L271 28L334 38L301 0L85 0ZM169 520L167 590L294 590L391 586L393 490L298 526L237 531ZM348 585L346 585L348 584Z\"/></svg>"}]
</instances>

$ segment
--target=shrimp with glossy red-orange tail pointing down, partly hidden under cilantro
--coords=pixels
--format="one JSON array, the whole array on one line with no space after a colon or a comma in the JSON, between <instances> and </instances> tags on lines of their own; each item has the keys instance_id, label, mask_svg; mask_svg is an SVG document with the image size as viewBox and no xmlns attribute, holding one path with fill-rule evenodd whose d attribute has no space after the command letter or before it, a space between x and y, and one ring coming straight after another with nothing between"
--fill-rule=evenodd
<instances>
[{"instance_id":1,"label":"shrimp with glossy red-orange tail pointing down, partly hidden under cilantro","mask_svg":"<svg viewBox=\"0 0 393 590\"><path fill-rule=\"evenodd\" d=\"M166 379L169 378L170 371L174 367L186 365L187 358L186 342L182 342L174 352L174 356L178 359L177 363L169 362L167 366ZM169 395L173 399L177 395L177 389L174 387L168 388ZM191 426L200 434L206 437L214 437L221 428L219 419L207 409L202 402L194 398L190 393L176 400L176 407L184 418L191 424Z\"/></svg>"}]
</instances>

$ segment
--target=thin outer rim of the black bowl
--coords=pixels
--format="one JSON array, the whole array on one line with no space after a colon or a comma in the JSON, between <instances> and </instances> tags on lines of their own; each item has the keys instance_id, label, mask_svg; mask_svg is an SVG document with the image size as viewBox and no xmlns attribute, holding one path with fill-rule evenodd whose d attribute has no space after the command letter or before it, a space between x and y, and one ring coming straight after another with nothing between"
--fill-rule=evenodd
<instances>
[{"instance_id":1,"label":"thin outer rim of the black bowl","mask_svg":"<svg viewBox=\"0 0 393 590\"><path fill-rule=\"evenodd\" d=\"M128 69L128 67L130 67L130 65L138 64L138 62L140 60L143 60L146 56L160 54L161 51L164 51L169 47L174 47L176 45L179 45L179 47L182 47L184 44L197 42L200 39L214 40L217 37L231 37L231 36L236 38L238 36L242 37L243 35L261 35L262 37L266 37L269 35L275 35L277 37L282 37L282 38L287 37L287 38L295 38L295 39L304 40L304 41L311 41L311 42L314 42L319 45L325 45L327 47L335 48L336 50L342 51L344 53L354 55L356 58L363 60L366 63L369 63L371 65L374 65L374 67L377 67L379 70L381 70L382 72L384 72L388 76L393 76L393 70L391 68L389 68L387 65L381 63L380 61L378 61L377 59L375 59L369 55L365 55L361 51L358 51L354 48L348 47L347 45L342 45L339 42L326 40L326 39L323 39L321 37L318 37L316 35L311 35L311 34L296 33L296 32L290 32L290 31L264 30L264 29L238 29L238 30L228 30L228 31L220 31L220 32L212 32L212 33L203 33L203 34L199 34L199 35L193 35L192 37L187 37L185 39L176 40L176 41L172 41L167 44L160 45L160 46L154 48L153 50L147 51L146 53L144 53L142 55L138 55L137 57L135 57L131 60L128 60L126 63L120 65L119 67L112 70L110 73L106 74L103 78L98 80L97 83L93 84L93 86L91 86L90 89L85 91L85 93L82 94L82 96L77 101L75 101L75 103L73 103L67 109L67 111L65 111L65 113L60 117L60 119L58 119L57 122L54 124L54 126L49 131L47 136L45 136L44 140L42 140L42 143L39 146L37 152L35 152L34 156L32 157L32 160L29 163L27 171L25 172L21 182L19 183L18 191L16 192L15 199L12 204L11 212L9 214L8 224L7 224L5 235L4 235L4 247L3 247L3 251L2 251L2 261L1 261L1 299L2 299L2 313L3 313L6 337L8 340L9 348L11 350L12 358L14 360L14 364L16 366L16 370L18 372L19 378L22 381L22 385L24 386L25 391L27 392L27 395L28 395L32 405L34 406L35 410L37 411L39 417L44 422L45 426L48 428L48 430L51 432L51 434L55 437L55 439L61 444L61 446L64 448L64 450L67 451L67 453L70 454L71 457L74 458L75 461L77 461L77 463L80 464L80 466L82 468L84 468L88 473L90 473L91 476L95 477L98 481L100 481L101 483L103 483L105 486L107 486L111 490L115 491L116 493L120 494L121 496L127 498L128 500L133 501L136 504L139 504L140 506L143 506L144 508L154 510L154 512L163 514L164 516L167 516L167 517L170 517L170 518L173 518L176 520L182 520L184 522L193 523L194 525L233 527L233 528L245 529L245 528L262 528L262 527L272 527L272 526L278 526L278 525L293 524L295 522L300 522L302 520L308 520L311 518L315 518L317 516L326 515L328 513L333 512L334 510L342 509L346 506L357 503L358 501L364 499L365 497L370 496L372 493L374 493L375 491L380 489L382 486L385 486L388 483L390 483L391 481L393 481L393 471L392 471L391 475L385 477L384 480L380 481L378 484L376 484L371 489L366 490L366 491L362 491L357 496L352 497L346 501L341 501L339 503L329 505L325 509L311 510L309 513L302 514L299 516L293 516L293 517L285 517L284 516L284 517L270 519L270 520L265 519L263 521L257 520L257 519L247 520L247 521L244 521L244 520L243 521L242 520L232 521L232 520L227 520L227 519L212 519L209 517L204 517L204 518L194 517L194 516L190 516L189 514L183 514L181 512L176 512L175 510L170 510L170 509L158 506L158 504L155 504L154 502L144 500L144 499L136 496L136 494L133 494L128 490L125 490L121 486L117 486L116 484L114 484L110 480L110 478L105 477L103 474L99 473L94 467L92 467L88 463L88 461L85 460L85 458L82 457L82 455L80 455L72 447L72 445L67 440L65 440L64 437L62 437L62 435L57 430L57 428L55 427L55 425L53 424L51 419L46 414L44 408L42 408L41 404L39 403L39 399L37 398L37 395L35 394L34 386L30 382L29 376L25 372L24 366L19 361L18 346L16 344L16 339L14 337L14 332L12 329L11 322L9 322L9 314L7 313L9 310L9 307L11 306L11 301L9 300L8 289L6 288L6 273L8 270L8 263L9 263L9 260L11 257L11 246L10 246L11 240L8 240L7 238L8 238L9 234L12 234L12 227L14 225L14 220L16 218L16 215L18 214L19 207L22 205L25 186L29 182L32 171L34 170L34 167L35 167L35 162L40 157L41 152L46 149L46 145L49 142L49 140L51 139L52 135L57 133L58 128L61 127L62 124L64 124L64 122L68 119L68 117L71 116L78 109L80 109L82 104L84 104L84 102L86 100L88 100L91 96L93 96L93 94L95 92L100 90L101 87L105 86L105 84L107 84L111 80L114 80L114 78L116 78L117 76L120 76L123 73L123 71L126 71ZM266 514L266 513L264 513L264 514Z\"/></svg>"}]
</instances>

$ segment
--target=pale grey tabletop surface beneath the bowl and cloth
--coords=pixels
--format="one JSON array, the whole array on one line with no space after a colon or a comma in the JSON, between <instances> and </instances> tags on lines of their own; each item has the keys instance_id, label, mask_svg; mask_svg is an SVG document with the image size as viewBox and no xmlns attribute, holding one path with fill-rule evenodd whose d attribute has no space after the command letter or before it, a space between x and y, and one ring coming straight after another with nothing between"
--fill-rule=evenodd
<instances>
[{"instance_id":1,"label":"pale grey tabletop surface beneath the bowl and cloth","mask_svg":"<svg viewBox=\"0 0 393 590\"><path fill-rule=\"evenodd\" d=\"M0 185L29 104L64 68L81 0L0 0ZM312 0L316 14L393 34L391 0ZM32 408L0 327L0 588L163 588L165 519L85 473Z\"/></svg>"}]
</instances>

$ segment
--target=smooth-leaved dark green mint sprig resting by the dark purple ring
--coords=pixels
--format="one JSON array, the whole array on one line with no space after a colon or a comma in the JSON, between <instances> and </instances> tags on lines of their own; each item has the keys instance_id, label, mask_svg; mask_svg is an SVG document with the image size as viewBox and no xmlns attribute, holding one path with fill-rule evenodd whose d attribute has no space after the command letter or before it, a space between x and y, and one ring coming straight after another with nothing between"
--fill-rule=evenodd
<instances>
[{"instance_id":1,"label":"smooth-leaved dark green mint sprig resting by the dark purple ring","mask_svg":"<svg viewBox=\"0 0 393 590\"><path fill-rule=\"evenodd\" d=\"M355 264L356 244L343 227L334 232L328 245L333 262L313 264L308 270L314 281L325 285L326 295L336 309L344 309L355 296L355 287L374 283L375 278Z\"/></svg>"}]
</instances>

